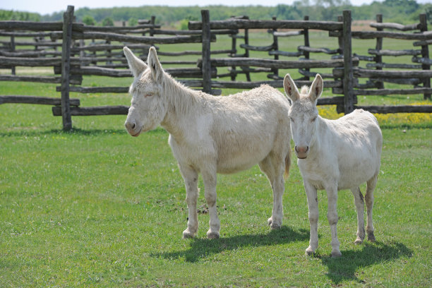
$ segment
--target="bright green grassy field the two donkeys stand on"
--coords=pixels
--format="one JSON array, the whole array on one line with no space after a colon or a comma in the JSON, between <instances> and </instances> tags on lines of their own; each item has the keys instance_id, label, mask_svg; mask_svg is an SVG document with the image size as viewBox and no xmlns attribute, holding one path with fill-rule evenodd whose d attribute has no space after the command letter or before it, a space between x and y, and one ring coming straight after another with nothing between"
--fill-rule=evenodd
<instances>
[{"instance_id":1,"label":"bright green grassy field the two donkeys stand on","mask_svg":"<svg viewBox=\"0 0 432 288\"><path fill-rule=\"evenodd\" d=\"M130 81L88 77L83 85ZM55 85L0 83L0 95L59 93ZM128 95L71 97L82 106L130 102ZM414 95L364 102L423 101ZM320 107L320 114L340 116L335 107ZM377 242L354 245L354 200L340 191L342 258L332 259L324 191L320 246L316 256L304 256L308 209L295 157L282 229L266 225L272 193L253 167L218 176L221 238L205 238L202 190L198 237L184 240L186 193L162 128L132 138L126 116L85 116L73 117L73 131L63 132L51 107L1 104L0 287L431 287L431 115L377 116L384 136Z\"/></svg>"}]
</instances>

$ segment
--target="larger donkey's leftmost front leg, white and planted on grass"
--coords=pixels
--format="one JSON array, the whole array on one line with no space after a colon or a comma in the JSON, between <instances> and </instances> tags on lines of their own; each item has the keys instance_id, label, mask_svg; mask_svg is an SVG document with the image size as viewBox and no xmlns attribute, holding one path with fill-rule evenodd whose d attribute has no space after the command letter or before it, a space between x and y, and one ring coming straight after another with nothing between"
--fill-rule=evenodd
<instances>
[{"instance_id":1,"label":"larger donkey's leftmost front leg, white and planted on grass","mask_svg":"<svg viewBox=\"0 0 432 288\"><path fill-rule=\"evenodd\" d=\"M186 186L186 203L188 204L188 228L183 232L183 238L192 238L198 231L198 213L196 202L198 199L198 173L187 165L180 165L181 176Z\"/></svg>"}]
</instances>

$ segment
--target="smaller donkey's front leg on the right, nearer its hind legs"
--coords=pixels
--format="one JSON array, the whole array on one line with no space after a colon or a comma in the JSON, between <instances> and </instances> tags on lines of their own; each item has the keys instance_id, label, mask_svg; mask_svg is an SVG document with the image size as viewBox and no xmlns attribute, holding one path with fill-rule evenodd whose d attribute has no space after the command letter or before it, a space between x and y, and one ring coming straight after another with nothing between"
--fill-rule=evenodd
<instances>
[{"instance_id":1,"label":"smaller donkey's front leg on the right, nearer its hind legs","mask_svg":"<svg viewBox=\"0 0 432 288\"><path fill-rule=\"evenodd\" d=\"M327 191L328 211L327 219L332 232L332 257L340 257L342 253L339 250L339 240L337 239L337 184L325 189Z\"/></svg>"}]
</instances>

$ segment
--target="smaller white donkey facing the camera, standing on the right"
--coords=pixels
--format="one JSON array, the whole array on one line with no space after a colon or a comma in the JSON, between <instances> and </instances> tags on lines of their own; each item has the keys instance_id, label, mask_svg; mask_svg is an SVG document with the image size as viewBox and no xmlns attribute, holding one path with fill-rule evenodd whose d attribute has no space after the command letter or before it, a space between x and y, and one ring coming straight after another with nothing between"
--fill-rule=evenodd
<instances>
[{"instance_id":1,"label":"smaller white donkey facing the camera, standing on the right","mask_svg":"<svg viewBox=\"0 0 432 288\"><path fill-rule=\"evenodd\" d=\"M366 182L366 232L368 240L375 241L372 224L373 190L380 171L383 136L378 121L363 109L354 110L337 120L323 119L318 115L316 101L323 92L323 78L316 75L311 88L297 90L292 78L284 78L284 90L292 100L289 109L292 138L297 164L304 181L308 198L311 239L306 254L318 247L317 189L325 189L328 197L327 218L332 233L332 257L340 257L337 240L337 191L351 189L357 212L357 238L364 240L364 200L359 185Z\"/></svg>"}]
</instances>

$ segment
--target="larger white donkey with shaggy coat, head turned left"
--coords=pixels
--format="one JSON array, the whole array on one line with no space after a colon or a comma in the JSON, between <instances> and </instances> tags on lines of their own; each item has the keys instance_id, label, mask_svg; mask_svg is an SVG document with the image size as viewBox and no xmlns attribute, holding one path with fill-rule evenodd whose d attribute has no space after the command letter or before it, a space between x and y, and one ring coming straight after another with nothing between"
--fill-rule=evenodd
<instances>
[{"instance_id":1,"label":"larger white donkey with shaggy coat, head turned left","mask_svg":"<svg viewBox=\"0 0 432 288\"><path fill-rule=\"evenodd\" d=\"M198 173L203 176L210 214L207 236L218 238L216 174L239 172L257 163L273 189L268 224L281 227L284 172L289 171L291 150L287 98L268 85L215 97L186 88L164 72L154 47L148 53L148 64L127 47L124 54L134 76L125 126L131 136L158 125L169 132L168 142L186 185L184 238L196 236L198 230Z\"/></svg>"}]
</instances>

